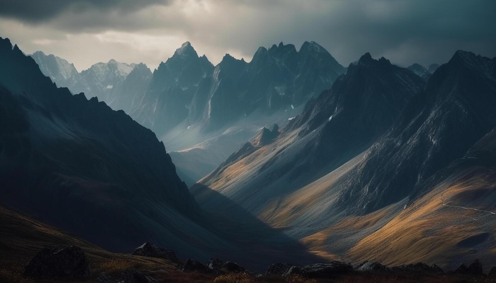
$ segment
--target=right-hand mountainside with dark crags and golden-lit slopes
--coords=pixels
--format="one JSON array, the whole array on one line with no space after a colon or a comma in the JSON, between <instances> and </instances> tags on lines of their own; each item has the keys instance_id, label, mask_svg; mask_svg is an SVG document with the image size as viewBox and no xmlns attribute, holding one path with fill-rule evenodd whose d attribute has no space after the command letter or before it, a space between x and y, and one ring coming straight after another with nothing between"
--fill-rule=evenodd
<instances>
[{"instance_id":1,"label":"right-hand mountainside with dark crags and golden-lit slopes","mask_svg":"<svg viewBox=\"0 0 496 283\"><path fill-rule=\"evenodd\" d=\"M494 262L495 67L458 51L425 82L365 54L277 138L190 191L234 214L216 191L329 260Z\"/></svg>"}]
</instances>

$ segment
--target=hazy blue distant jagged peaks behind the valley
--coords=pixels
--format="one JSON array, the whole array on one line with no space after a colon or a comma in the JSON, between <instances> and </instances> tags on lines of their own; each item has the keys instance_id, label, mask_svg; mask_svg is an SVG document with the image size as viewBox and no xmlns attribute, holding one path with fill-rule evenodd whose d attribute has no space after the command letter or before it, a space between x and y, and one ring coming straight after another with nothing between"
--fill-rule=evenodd
<instances>
[{"instance_id":1,"label":"hazy blue distant jagged peaks behind the valley","mask_svg":"<svg viewBox=\"0 0 496 283\"><path fill-rule=\"evenodd\" d=\"M54 77L46 71L47 57L35 54L42 72ZM153 130L191 185L261 127L287 123L345 70L315 42L305 42L299 51L282 42L260 47L250 62L226 54L216 66L186 42L153 74L142 63L110 60L75 74L68 79L71 85L54 82L96 96Z\"/></svg>"}]
</instances>

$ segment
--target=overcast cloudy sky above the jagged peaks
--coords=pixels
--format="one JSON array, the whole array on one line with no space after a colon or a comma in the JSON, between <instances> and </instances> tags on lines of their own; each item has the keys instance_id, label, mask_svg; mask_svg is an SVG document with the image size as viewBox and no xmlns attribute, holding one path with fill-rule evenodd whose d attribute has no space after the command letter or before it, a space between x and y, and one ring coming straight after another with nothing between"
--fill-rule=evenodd
<instances>
[{"instance_id":1,"label":"overcast cloudy sky above the jagged peaks","mask_svg":"<svg viewBox=\"0 0 496 283\"><path fill-rule=\"evenodd\" d=\"M259 46L315 41L347 66L410 65L458 50L496 56L496 0L0 0L0 36L81 71L114 58L152 70L185 41L216 64Z\"/></svg>"}]
</instances>

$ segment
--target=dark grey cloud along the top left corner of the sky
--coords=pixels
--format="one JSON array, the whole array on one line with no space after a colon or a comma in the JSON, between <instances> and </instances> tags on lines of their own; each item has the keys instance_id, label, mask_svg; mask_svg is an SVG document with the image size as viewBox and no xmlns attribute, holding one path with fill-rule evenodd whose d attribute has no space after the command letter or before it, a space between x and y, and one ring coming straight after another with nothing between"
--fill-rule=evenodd
<instances>
[{"instance_id":1,"label":"dark grey cloud along the top left corner of the sky","mask_svg":"<svg viewBox=\"0 0 496 283\"><path fill-rule=\"evenodd\" d=\"M133 11L164 0L1 0L0 15L29 22L51 19L64 11Z\"/></svg>"}]
</instances>

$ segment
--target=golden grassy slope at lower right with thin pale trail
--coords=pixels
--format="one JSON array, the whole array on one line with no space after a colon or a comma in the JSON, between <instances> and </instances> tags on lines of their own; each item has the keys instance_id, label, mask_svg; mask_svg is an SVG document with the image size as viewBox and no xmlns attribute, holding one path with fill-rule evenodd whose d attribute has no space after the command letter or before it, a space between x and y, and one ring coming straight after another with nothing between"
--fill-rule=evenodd
<instances>
[{"instance_id":1,"label":"golden grassy slope at lower right with thin pale trail","mask_svg":"<svg viewBox=\"0 0 496 283\"><path fill-rule=\"evenodd\" d=\"M385 226L362 239L347 256L357 262L376 260L397 265L422 261L444 268L453 268L463 259L477 257L489 270L491 264L496 265L493 262L496 215L466 208L495 210L496 204L492 207L474 205L485 200L480 190L491 193L496 190L495 183L496 173L491 170L479 167L465 170L438 184ZM463 197L467 193L481 197L472 198L467 204L469 200ZM481 242L477 236L481 234L489 237L485 240L489 243L477 249Z\"/></svg>"}]
</instances>

